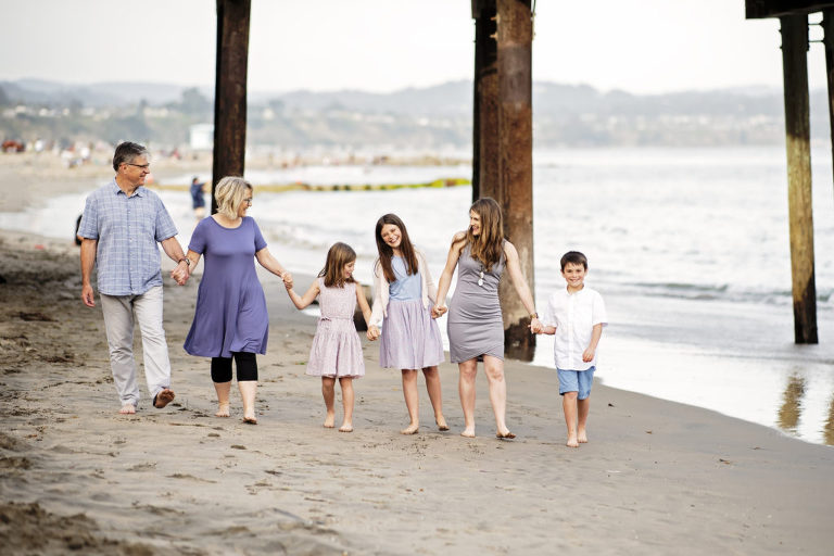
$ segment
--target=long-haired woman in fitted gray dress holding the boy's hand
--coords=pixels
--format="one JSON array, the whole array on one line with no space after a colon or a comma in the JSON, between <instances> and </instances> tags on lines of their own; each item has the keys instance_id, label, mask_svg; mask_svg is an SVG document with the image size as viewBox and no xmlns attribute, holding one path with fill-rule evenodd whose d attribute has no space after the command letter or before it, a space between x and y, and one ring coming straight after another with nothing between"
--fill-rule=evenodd
<instances>
[{"instance_id":1,"label":"long-haired woman in fitted gray dress holding the boy's hand","mask_svg":"<svg viewBox=\"0 0 834 556\"><path fill-rule=\"evenodd\" d=\"M446 293L457 267L457 285L448 309ZM450 361L457 363L458 392L466 422L462 437L475 437L475 377L478 359L490 386L490 402L495 414L496 435L513 439L505 422L507 386L504 381L504 321L498 302L498 281L504 268L521 303L530 312L531 326L539 327L539 315L530 288L521 274L518 252L504 239L501 207L489 197L479 199L469 208L469 229L455 233L448 257L438 285L437 305L432 316L448 311Z\"/></svg>"}]
</instances>

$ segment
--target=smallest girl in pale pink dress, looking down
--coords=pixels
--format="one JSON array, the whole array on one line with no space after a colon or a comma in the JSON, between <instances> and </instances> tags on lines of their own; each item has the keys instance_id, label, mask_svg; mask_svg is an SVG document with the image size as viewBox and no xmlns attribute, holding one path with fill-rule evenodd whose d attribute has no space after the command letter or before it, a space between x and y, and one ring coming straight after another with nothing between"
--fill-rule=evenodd
<instances>
[{"instance_id":1,"label":"smallest girl in pale pink dress, looking down","mask_svg":"<svg viewBox=\"0 0 834 556\"><path fill-rule=\"evenodd\" d=\"M321 377L321 395L325 397L327 410L324 426L328 429L333 428L336 424L333 402L336 381L339 380L344 407L340 432L353 431L353 379L365 376L362 342L353 324L357 303L368 325L368 339L372 336L370 307L362 286L353 277L355 266L356 252L345 243L333 243L327 252L325 268L303 296L295 293L291 283L287 285L287 293L299 309L318 298L321 317L318 319L309 349L307 375Z\"/></svg>"}]
</instances>

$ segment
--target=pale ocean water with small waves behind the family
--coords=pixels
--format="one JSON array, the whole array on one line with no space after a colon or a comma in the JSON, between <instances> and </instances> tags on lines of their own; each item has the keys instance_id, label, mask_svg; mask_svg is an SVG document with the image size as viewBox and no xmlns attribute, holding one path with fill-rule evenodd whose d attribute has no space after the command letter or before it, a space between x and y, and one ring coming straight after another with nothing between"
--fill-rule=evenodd
<instances>
[{"instance_id":1,"label":"pale ocean water with small waves behind the family","mask_svg":"<svg viewBox=\"0 0 834 556\"><path fill-rule=\"evenodd\" d=\"M814 149L812 161L819 345L793 343L781 148L534 153L539 306L564 287L561 254L582 251L590 261L586 283L603 294L610 319L599 346L596 377L602 382L834 445L831 152ZM409 184L470 177L470 168L307 166L247 177L255 184ZM190 175L159 180L187 184ZM187 244L194 224L188 194L161 194ZM68 237L85 197L0 214L0 227ZM375 223L394 212L426 252L437 279L452 236L468 224L470 202L469 187L256 192L250 215L291 270L317 273L328 247L344 241L358 254L357 277L368 281ZM533 363L553 366L547 337L540 339ZM511 377L508 381L511 405ZM559 407L554 392L554 412Z\"/></svg>"}]
</instances>

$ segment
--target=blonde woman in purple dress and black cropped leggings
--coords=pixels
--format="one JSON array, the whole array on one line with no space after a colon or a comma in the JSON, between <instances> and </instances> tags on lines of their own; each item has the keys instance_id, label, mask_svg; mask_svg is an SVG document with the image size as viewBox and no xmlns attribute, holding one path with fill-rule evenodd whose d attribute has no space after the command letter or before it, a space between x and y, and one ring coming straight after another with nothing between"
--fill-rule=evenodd
<instances>
[{"instance_id":1,"label":"blonde woman in purple dress and black cropped leggings","mask_svg":"<svg viewBox=\"0 0 834 556\"><path fill-rule=\"evenodd\" d=\"M252 186L247 180L239 177L220 179L215 199L217 214L200 220L186 255L190 268L195 268L203 255L205 269L185 349L191 355L212 358L217 417L230 415L231 359L235 359L243 421L257 425L255 354L266 353L269 316L264 289L255 271L255 260L290 287L292 275L269 253L257 224L247 216L252 206Z\"/></svg>"}]
</instances>

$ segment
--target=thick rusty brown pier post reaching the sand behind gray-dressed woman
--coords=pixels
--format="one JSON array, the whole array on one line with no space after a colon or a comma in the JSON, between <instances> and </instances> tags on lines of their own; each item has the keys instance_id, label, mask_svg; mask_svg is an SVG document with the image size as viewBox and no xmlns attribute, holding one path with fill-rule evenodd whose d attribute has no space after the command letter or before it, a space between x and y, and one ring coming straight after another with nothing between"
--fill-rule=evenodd
<instances>
[{"instance_id":1,"label":"thick rusty brown pier post reaching the sand behind gray-dressed woman","mask_svg":"<svg viewBox=\"0 0 834 556\"><path fill-rule=\"evenodd\" d=\"M497 0L496 5L500 195L495 200L504 212L505 235L518 250L521 274L534 292L532 13L530 0ZM531 361L535 337L528 328L530 315L508 279L501 281L498 295L505 351Z\"/></svg>"}]
</instances>

